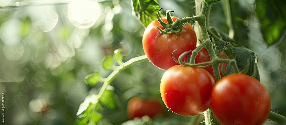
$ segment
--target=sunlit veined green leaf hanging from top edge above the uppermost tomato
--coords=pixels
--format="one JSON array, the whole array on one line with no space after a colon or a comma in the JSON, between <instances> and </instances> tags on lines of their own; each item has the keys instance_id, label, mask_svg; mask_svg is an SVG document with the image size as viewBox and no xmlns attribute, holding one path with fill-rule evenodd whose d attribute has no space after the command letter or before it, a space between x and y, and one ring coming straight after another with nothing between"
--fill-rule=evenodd
<instances>
[{"instance_id":1,"label":"sunlit veined green leaf hanging from top edge above the uppermost tomato","mask_svg":"<svg viewBox=\"0 0 286 125\"><path fill-rule=\"evenodd\" d=\"M145 27L157 19L156 15L160 9L160 5L156 0L132 0L131 4L132 11Z\"/></svg>"}]
</instances>

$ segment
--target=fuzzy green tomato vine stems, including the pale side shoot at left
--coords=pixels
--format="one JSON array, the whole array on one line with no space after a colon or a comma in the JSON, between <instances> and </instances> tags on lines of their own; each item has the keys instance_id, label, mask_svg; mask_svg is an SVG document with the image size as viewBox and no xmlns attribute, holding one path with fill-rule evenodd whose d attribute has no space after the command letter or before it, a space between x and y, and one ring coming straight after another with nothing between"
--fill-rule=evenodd
<instances>
[{"instance_id":1,"label":"fuzzy green tomato vine stems, including the pale side shoot at left","mask_svg":"<svg viewBox=\"0 0 286 125\"><path fill-rule=\"evenodd\" d=\"M170 16L170 12L173 12L172 10L168 10L166 12L166 18L167 18L167 23L164 23L159 15L159 10L157 13L157 20L159 21L159 23L162 25L162 27L164 27L164 29L160 29L158 28L158 30L160 31L160 33L158 35L160 35L161 33L163 34L171 34L171 33L181 33L182 32L182 27L186 24L188 24L191 21L196 21L199 25L200 28L200 33L202 35L202 41L201 44L199 46L197 46L193 51L186 51L184 53L182 53L179 56L178 61L176 61L176 59L173 56L173 59L181 65L184 66L193 66L193 67L201 67L204 68L206 66L210 66L212 65L212 69L215 75L215 80L218 81L221 79L221 74L220 74L220 70L219 69L219 64L220 63L228 63L229 65L232 66L233 72L236 74L240 74L240 73L246 73L249 68L243 70L242 72L240 71L239 67L237 66L237 61L235 59L220 59L217 54L222 52L224 49L227 48L228 45L230 45L232 48L234 47L233 45L230 44L229 41L226 41L224 39L222 39L221 37L215 35L214 33L212 33L212 31L210 30L210 26L209 26L209 14L210 14L210 8L211 8L211 4L216 2L216 0L202 0L201 1L201 10L200 13L196 16L192 16L192 17L185 17L185 18L178 18L176 19L174 22L172 21L172 17ZM227 3L227 1L224 1L224 4L229 4ZM229 9L228 7L225 7L225 9ZM227 14L226 14L227 15ZM229 19L228 19L228 22ZM231 24L227 24L228 26ZM230 29L231 30L231 29ZM210 38L209 33L212 34L216 39L221 39L221 41L224 41L226 43L225 47L223 47L221 50L216 51L214 49L214 43L212 42L212 38ZM232 39L232 36L230 36L230 38ZM198 52L202 49L202 48L206 48L206 50L209 53L210 56L210 61L209 62L203 62L203 63L199 63L199 64L195 64L195 58L198 55ZM108 65L108 66L104 66L106 67L106 69L112 69L114 70L107 78L101 78L101 76L99 74L91 74L89 76L86 77L86 83L96 83L96 82L103 82L103 86L100 90L100 92L97 95L97 98L100 98L102 93L104 92L104 90L106 89L106 86L108 84L110 84L114 78L116 78L116 76L123 70L125 70L126 68L129 68L130 66L138 63L138 62L142 62L142 61L147 61L147 56L146 55L142 55L139 57L135 57L133 59L130 59L127 62L122 62L122 55L120 55L122 50L118 49L114 52L114 56L112 57L112 59L108 59L108 61L104 61L103 65ZM176 50L175 50L176 51ZM174 52L175 52L174 51ZM173 53L174 53L173 52ZM184 61L182 61L182 58L185 57L186 54L188 54L189 52L191 52L192 54L189 56L188 61L185 63ZM255 53L254 53L255 55ZM107 57L106 57L107 59ZM110 62L111 61L111 62ZM119 64L119 66L115 66L113 65L112 61L115 61L117 64ZM204 66L202 66L204 65ZM206 65L206 66L205 66ZM250 65L250 63L249 63ZM256 68L256 66L255 66ZM252 77L256 77L257 75L257 70L254 69L253 70L253 75ZM223 71L224 72L224 71ZM223 74L226 74L225 72ZM89 81L89 78L91 81ZM91 79L92 78L92 79ZM93 81L92 81L93 80ZM235 113L235 112L233 112ZM192 123L195 122L195 119L198 116L195 116L192 118ZM204 112L204 117L205 117L205 124L206 125L213 125L213 124L219 124L219 122L216 120L215 116L212 114L212 111L210 108L208 108L205 112ZM278 124L286 124L286 118L284 116L281 116L277 113L271 112L270 111L270 115L268 117L268 119L273 120L275 122L277 122Z\"/></svg>"}]
</instances>

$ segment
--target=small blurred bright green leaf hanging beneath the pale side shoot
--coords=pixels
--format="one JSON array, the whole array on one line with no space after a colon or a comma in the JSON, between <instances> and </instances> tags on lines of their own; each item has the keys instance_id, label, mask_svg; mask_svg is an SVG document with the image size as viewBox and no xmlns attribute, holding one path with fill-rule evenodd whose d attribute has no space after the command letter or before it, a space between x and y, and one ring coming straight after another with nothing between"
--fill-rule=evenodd
<instances>
[{"instance_id":1,"label":"small blurred bright green leaf hanging beneath the pale side shoot","mask_svg":"<svg viewBox=\"0 0 286 125\"><path fill-rule=\"evenodd\" d=\"M105 105L105 108L116 109L116 100L112 90L104 90L99 100L101 104Z\"/></svg>"}]
</instances>

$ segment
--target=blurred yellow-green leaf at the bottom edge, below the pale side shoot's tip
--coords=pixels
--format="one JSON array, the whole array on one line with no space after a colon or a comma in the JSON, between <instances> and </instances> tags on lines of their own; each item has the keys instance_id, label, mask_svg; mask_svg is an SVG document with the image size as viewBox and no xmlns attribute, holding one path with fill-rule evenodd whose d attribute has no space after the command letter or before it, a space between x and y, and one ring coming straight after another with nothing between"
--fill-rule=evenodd
<instances>
[{"instance_id":1,"label":"blurred yellow-green leaf at the bottom edge, below the pale side shoot's tip","mask_svg":"<svg viewBox=\"0 0 286 125\"><path fill-rule=\"evenodd\" d=\"M88 108L84 110L76 121L76 125L86 125L86 124L97 124L99 120L102 119L103 115L101 113L96 112L95 110L96 104L90 103Z\"/></svg>"}]
</instances>

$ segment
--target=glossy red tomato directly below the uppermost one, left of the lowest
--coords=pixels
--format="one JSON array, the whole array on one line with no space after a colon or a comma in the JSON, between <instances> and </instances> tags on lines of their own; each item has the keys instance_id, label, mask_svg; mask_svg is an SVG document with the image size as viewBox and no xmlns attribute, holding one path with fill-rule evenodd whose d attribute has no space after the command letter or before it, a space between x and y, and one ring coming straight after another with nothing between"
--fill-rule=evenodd
<instances>
[{"instance_id":1,"label":"glossy red tomato directly below the uppermost one, left of the lowest","mask_svg":"<svg viewBox=\"0 0 286 125\"><path fill-rule=\"evenodd\" d=\"M165 105L174 113L195 116L209 108L215 80L201 68L176 65L162 76L160 92Z\"/></svg>"}]
</instances>

